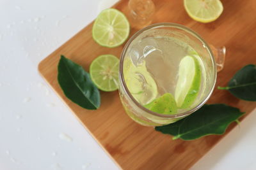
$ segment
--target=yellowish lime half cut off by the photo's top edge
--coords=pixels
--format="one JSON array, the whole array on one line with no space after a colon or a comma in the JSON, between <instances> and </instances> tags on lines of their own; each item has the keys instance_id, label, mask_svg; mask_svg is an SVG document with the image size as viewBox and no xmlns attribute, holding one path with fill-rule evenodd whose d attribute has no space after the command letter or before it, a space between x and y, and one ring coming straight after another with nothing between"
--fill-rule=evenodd
<instances>
[{"instance_id":1,"label":"yellowish lime half cut off by the photo's top edge","mask_svg":"<svg viewBox=\"0 0 256 170\"><path fill-rule=\"evenodd\" d=\"M220 17L223 6L220 0L184 0L188 15L198 22L212 22Z\"/></svg>"}]
</instances>

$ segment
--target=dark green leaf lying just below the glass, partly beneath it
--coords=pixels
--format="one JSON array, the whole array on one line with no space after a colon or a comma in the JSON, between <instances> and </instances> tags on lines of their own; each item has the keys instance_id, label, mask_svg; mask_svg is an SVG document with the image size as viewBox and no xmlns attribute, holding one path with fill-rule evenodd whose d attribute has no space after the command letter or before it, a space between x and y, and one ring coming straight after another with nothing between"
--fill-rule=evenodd
<instances>
[{"instance_id":1,"label":"dark green leaf lying just below the glass, partly beneath it","mask_svg":"<svg viewBox=\"0 0 256 170\"><path fill-rule=\"evenodd\" d=\"M164 134L171 134L173 139L193 140L210 134L223 134L228 125L243 114L239 109L225 104L205 104L188 117L155 129Z\"/></svg>"}]
</instances>

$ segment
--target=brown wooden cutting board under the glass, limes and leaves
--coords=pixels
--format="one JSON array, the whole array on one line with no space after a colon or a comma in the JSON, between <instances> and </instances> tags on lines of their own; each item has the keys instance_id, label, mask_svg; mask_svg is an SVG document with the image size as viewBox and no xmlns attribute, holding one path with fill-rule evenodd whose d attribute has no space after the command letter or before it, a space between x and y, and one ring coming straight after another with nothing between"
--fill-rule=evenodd
<instances>
[{"instance_id":1,"label":"brown wooden cutting board under the glass, limes and leaves","mask_svg":"<svg viewBox=\"0 0 256 170\"><path fill-rule=\"evenodd\" d=\"M127 2L120 1L114 7L127 11ZM182 1L155 0L154 22L176 22L198 32L212 45L227 47L225 68L218 73L216 86L227 85L234 73L246 64L256 64L256 1L222 0L224 11L218 20L201 24L188 17ZM136 32L131 30L131 35ZM131 36L130 35L130 36ZM124 44L125 45L125 44ZM120 57L124 45L105 48L92 39L92 24L60 46L42 60L39 72L63 99L74 115L97 139L109 156L122 169L188 169L212 146L216 145L236 125L232 124L223 136L207 136L195 141L172 140L171 136L154 131L153 127L136 124L126 114L118 92L100 92L102 104L99 110L85 110L64 96L57 81L57 65L63 54L88 71L95 57L111 53ZM241 101L225 90L214 90L208 103L225 103L246 111L248 115L256 103ZM243 123L242 123L243 125Z\"/></svg>"}]
</instances>

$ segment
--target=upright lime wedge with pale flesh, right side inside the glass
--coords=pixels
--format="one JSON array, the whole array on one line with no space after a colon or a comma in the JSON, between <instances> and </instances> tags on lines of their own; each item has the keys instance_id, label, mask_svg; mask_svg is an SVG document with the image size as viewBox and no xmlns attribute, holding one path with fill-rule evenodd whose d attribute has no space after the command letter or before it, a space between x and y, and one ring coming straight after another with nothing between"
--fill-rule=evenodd
<instances>
[{"instance_id":1,"label":"upright lime wedge with pale flesh, right side inside the glass","mask_svg":"<svg viewBox=\"0 0 256 170\"><path fill-rule=\"evenodd\" d=\"M200 63L195 57L186 55L179 64L179 78L175 89L178 108L188 108L193 104L201 84Z\"/></svg>"}]
</instances>

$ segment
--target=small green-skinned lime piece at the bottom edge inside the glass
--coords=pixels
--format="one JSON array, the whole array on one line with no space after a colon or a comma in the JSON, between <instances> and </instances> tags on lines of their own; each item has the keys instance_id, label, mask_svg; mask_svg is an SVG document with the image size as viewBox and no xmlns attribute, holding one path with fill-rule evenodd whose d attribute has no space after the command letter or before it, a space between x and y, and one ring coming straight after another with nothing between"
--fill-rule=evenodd
<instances>
[{"instance_id":1,"label":"small green-skinned lime piece at the bottom edge inside the glass","mask_svg":"<svg viewBox=\"0 0 256 170\"><path fill-rule=\"evenodd\" d=\"M154 99L151 103L144 106L148 110L156 113L162 113L164 115L172 115L177 113L177 105L174 97L170 93L166 93L157 99Z\"/></svg>"}]
</instances>

